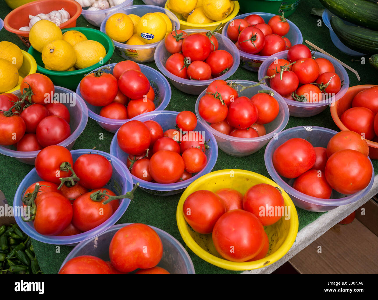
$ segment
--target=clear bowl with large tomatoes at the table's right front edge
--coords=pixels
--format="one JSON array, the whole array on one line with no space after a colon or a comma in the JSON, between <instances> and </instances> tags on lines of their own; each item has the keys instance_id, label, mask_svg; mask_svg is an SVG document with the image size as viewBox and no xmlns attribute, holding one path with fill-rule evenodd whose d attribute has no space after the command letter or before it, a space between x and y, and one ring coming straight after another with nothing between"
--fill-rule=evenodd
<instances>
[{"instance_id":1,"label":"clear bowl with large tomatoes at the table's right front edge","mask_svg":"<svg viewBox=\"0 0 378 300\"><path fill-rule=\"evenodd\" d=\"M280 132L266 146L266 169L297 207L330 211L358 201L372 188L374 169L367 153L351 148L352 142L345 147L349 136L338 135L331 147L336 134L328 128L298 126ZM365 142L357 137L357 143Z\"/></svg>"}]
</instances>

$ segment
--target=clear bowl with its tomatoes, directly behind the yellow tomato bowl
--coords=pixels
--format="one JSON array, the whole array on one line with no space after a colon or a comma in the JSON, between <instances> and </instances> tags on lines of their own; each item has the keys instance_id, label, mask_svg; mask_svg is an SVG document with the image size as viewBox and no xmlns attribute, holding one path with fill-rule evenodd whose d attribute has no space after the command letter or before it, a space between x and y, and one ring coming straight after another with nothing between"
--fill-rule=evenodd
<instances>
[{"instance_id":1,"label":"clear bowl with its tomatoes, directly behind the yellow tomato bowl","mask_svg":"<svg viewBox=\"0 0 378 300\"><path fill-rule=\"evenodd\" d=\"M209 85L208 89L203 91L197 98L195 103L195 113L199 122L210 131L220 149L232 156L246 156L259 151L269 140L281 132L289 120L289 109L283 98L271 88L265 85L258 85L256 82L249 80L232 80L227 82L217 81ZM251 85L250 88L246 88ZM232 88L234 87L234 88ZM243 88L245 90L241 91ZM227 106L221 102L214 100L207 93L217 91ZM272 93L272 94L266 94ZM234 102L231 102L231 97ZM240 103L236 106L237 100L250 100L253 98L254 105L257 105L256 111L250 111L243 115L245 126L237 129L234 126L240 125L241 115L237 111L242 111L248 102ZM222 112L218 109L214 110L214 104L220 106ZM228 108L227 108L228 107ZM259 109L260 114L259 114ZM223 114L224 111L224 114ZM223 116L222 116L223 114ZM206 120L204 119L206 115ZM216 118L216 120L215 120ZM253 118L253 120L249 120ZM223 120L221 120L223 119ZM233 122L233 120L235 122ZM234 124L234 126L229 125ZM253 122L253 123L251 123ZM251 128L250 128L251 127Z\"/></svg>"}]
</instances>

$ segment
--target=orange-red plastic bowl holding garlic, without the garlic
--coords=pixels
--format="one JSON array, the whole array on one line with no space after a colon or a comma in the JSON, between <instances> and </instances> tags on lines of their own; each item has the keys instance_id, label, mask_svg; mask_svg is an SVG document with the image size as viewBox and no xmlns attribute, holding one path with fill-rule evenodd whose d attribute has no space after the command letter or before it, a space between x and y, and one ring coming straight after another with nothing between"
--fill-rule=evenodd
<instances>
[{"instance_id":1,"label":"orange-red plastic bowl holding garlic, without the garlic","mask_svg":"<svg viewBox=\"0 0 378 300\"><path fill-rule=\"evenodd\" d=\"M29 15L48 14L51 11L59 11L62 8L68 11L71 18L60 24L59 28L75 27L76 19L82 11L82 7L78 2L72 0L39 0L24 4L9 12L4 19L4 28L17 34L20 40L27 47L30 47L29 31L19 30L23 26L29 26Z\"/></svg>"}]
</instances>

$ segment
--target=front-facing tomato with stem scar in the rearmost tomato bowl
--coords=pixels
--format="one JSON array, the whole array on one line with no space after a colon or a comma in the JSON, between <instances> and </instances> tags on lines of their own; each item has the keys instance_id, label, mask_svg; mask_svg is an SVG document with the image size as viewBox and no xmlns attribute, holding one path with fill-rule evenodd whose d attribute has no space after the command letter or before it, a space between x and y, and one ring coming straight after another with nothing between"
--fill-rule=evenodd
<instances>
[{"instance_id":1,"label":"front-facing tomato with stem scar in the rearmost tomato bowl","mask_svg":"<svg viewBox=\"0 0 378 300\"><path fill-rule=\"evenodd\" d=\"M239 43L240 50L256 54L264 47L265 36L259 28L248 26L240 32L237 42Z\"/></svg>"}]
</instances>

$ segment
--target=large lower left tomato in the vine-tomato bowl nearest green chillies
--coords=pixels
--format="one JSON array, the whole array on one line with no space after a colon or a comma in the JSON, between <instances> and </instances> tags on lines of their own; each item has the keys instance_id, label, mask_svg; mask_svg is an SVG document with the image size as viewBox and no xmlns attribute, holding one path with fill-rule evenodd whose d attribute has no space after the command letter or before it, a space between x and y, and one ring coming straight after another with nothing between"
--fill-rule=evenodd
<instances>
[{"instance_id":1,"label":"large lower left tomato in the vine-tomato bowl nearest green chillies","mask_svg":"<svg viewBox=\"0 0 378 300\"><path fill-rule=\"evenodd\" d=\"M72 205L62 194L45 192L36 198L36 205L33 225L38 233L57 235L71 223Z\"/></svg>"}]
</instances>

